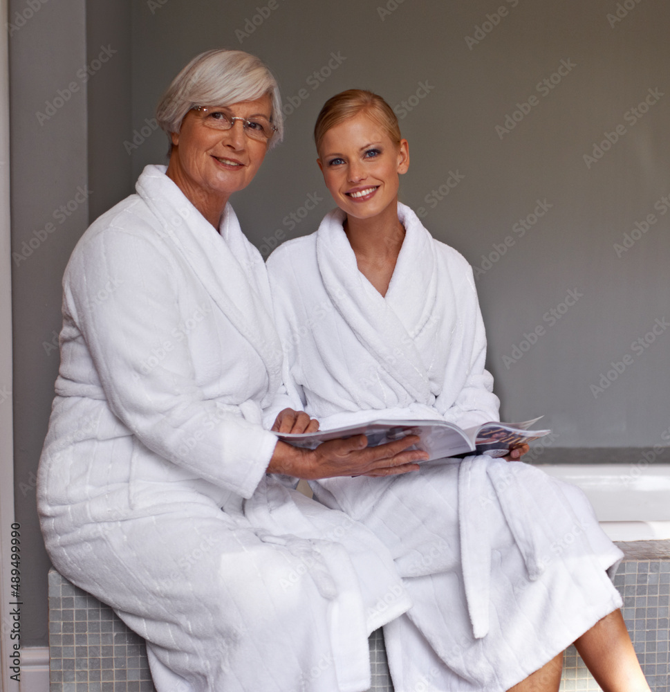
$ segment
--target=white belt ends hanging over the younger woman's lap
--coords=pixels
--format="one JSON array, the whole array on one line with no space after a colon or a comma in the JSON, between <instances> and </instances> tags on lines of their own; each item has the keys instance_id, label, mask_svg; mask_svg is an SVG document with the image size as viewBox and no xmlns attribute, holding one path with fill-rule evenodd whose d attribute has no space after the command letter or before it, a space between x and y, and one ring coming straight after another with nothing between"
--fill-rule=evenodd
<instances>
[{"instance_id":1,"label":"white belt ends hanging over the younger woman's lap","mask_svg":"<svg viewBox=\"0 0 670 692\"><path fill-rule=\"evenodd\" d=\"M544 571L540 547L546 536L540 527L525 517L524 506L532 506L534 498L518 483L516 476L523 468L485 455L467 457L458 474L458 520L460 526L460 556L467 610L476 639L489 631L491 591L491 533L490 507L499 504L517 547L523 556L530 581ZM520 511L521 510L521 511Z\"/></svg>"}]
</instances>

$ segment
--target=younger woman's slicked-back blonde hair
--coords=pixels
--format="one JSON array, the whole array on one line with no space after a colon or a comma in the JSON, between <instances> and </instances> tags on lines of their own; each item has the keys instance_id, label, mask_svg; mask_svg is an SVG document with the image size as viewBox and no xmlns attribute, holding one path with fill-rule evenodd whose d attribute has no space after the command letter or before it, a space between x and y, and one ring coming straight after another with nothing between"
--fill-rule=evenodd
<instances>
[{"instance_id":1,"label":"younger woman's slicked-back blonde hair","mask_svg":"<svg viewBox=\"0 0 670 692\"><path fill-rule=\"evenodd\" d=\"M331 96L321 109L314 126L314 142L317 151L326 132L340 122L365 113L370 116L391 138L396 146L400 144L400 126L396 113L384 99L366 89L347 89Z\"/></svg>"}]
</instances>

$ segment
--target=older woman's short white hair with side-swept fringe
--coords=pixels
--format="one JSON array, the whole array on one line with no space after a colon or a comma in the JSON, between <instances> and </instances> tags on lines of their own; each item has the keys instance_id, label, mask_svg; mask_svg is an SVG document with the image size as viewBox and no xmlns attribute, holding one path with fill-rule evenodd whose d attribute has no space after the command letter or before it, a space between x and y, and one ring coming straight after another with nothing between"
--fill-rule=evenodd
<instances>
[{"instance_id":1,"label":"older woman's short white hair with side-swept fringe","mask_svg":"<svg viewBox=\"0 0 670 692\"><path fill-rule=\"evenodd\" d=\"M230 106L270 95L270 120L277 131L268 146L283 138L283 117L277 80L255 55L217 48L196 55L172 80L156 107L158 125L167 133L178 132L186 114L196 106Z\"/></svg>"}]
</instances>

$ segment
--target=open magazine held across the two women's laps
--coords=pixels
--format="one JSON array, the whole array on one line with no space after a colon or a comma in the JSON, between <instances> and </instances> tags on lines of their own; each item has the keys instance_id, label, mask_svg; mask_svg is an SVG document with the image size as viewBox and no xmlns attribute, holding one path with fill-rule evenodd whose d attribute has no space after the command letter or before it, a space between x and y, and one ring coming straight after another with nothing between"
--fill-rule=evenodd
<instances>
[{"instance_id":1,"label":"open magazine held across the two women's laps","mask_svg":"<svg viewBox=\"0 0 670 692\"><path fill-rule=\"evenodd\" d=\"M411 449L420 449L429 454L427 461L442 457L458 457L468 454L487 454L504 457L509 451L538 437L548 435L551 430L530 430L539 418L524 423L485 423L462 430L446 421L376 420L369 423L322 430L320 432L274 432L296 447L314 449L322 442L338 437L365 435L368 446L393 442L406 435L418 435L420 442Z\"/></svg>"}]
</instances>

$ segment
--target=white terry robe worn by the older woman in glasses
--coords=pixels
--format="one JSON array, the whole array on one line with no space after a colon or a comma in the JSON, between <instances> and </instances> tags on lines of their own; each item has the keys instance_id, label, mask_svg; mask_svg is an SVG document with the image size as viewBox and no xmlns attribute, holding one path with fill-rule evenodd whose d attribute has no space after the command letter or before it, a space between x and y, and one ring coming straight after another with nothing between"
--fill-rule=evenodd
<instances>
[{"instance_id":1,"label":"white terry robe worn by the older woman in glasses","mask_svg":"<svg viewBox=\"0 0 670 692\"><path fill-rule=\"evenodd\" d=\"M53 564L147 640L159 692L360 692L411 604L388 549L266 467L281 347L261 255L165 168L86 231L38 477ZM223 508L223 509L222 509Z\"/></svg>"}]
</instances>

